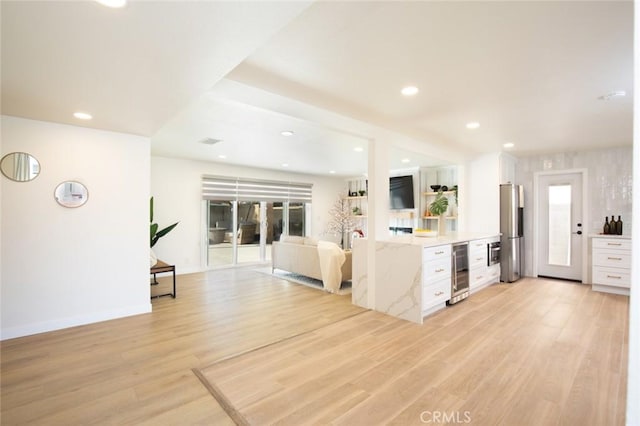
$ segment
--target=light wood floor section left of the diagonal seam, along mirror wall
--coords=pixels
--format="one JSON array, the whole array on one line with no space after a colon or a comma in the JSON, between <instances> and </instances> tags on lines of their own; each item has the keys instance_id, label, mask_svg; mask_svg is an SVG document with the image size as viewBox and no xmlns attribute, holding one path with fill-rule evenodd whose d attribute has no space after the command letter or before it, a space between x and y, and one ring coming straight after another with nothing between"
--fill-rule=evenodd
<instances>
[{"instance_id":1,"label":"light wood floor section left of the diagonal seam, along mirror wall","mask_svg":"<svg viewBox=\"0 0 640 426\"><path fill-rule=\"evenodd\" d=\"M192 368L363 311L246 269L177 279L152 314L1 342L0 423L233 424Z\"/></svg>"}]
</instances>

